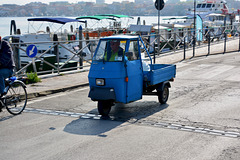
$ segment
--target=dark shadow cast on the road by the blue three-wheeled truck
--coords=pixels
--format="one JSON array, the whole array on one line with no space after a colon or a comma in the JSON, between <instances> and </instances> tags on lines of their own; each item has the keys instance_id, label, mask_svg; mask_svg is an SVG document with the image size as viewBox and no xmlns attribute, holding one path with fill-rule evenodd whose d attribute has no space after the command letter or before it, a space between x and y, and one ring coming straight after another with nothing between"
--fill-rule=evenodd
<instances>
[{"instance_id":1,"label":"dark shadow cast on the road by the blue three-wheeled truck","mask_svg":"<svg viewBox=\"0 0 240 160\"><path fill-rule=\"evenodd\" d=\"M110 119L84 119L79 118L67 124L64 131L78 135L98 135L107 137L106 132L120 126L124 122L135 123L138 120L160 112L168 107L167 104L160 105L156 101L139 101L130 104L116 104L110 113ZM92 112L92 111L90 111ZM131 121L134 120L134 121Z\"/></svg>"}]
</instances>

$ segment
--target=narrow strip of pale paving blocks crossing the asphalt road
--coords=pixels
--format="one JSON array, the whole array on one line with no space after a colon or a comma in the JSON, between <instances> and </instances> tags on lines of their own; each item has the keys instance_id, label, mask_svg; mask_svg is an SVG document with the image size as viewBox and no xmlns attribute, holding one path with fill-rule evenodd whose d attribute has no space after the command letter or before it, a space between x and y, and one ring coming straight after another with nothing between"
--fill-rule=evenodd
<instances>
[{"instance_id":1,"label":"narrow strip of pale paving blocks crossing the asphalt road","mask_svg":"<svg viewBox=\"0 0 240 160\"><path fill-rule=\"evenodd\" d=\"M35 114L44 114L44 115L54 115L54 116L64 116L72 118L81 118L81 119L93 119L101 120L101 115L98 114L89 114L89 113L73 113L73 112L64 112L64 111L54 111L54 110L44 110L44 109L34 109L34 108L25 108L24 112L35 113ZM116 118L110 118L111 121L119 121ZM124 121L124 120L121 120ZM185 132L201 133L215 136L224 136L230 138L240 138L239 132L234 131L224 131L210 128L202 128L195 126L186 126L183 124L174 124L174 123L165 123L165 122L155 122L155 121L146 121L146 120L126 120L126 122L131 124L153 126L159 128L166 128L172 130L180 130Z\"/></svg>"}]
</instances>

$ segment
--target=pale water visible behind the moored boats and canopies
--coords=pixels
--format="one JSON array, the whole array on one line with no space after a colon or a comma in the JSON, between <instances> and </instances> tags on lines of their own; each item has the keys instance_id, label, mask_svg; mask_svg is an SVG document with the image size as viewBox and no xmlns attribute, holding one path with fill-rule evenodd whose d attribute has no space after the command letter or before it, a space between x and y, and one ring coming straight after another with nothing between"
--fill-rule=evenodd
<instances>
[{"instance_id":1,"label":"pale water visible behind the moored boats and canopies","mask_svg":"<svg viewBox=\"0 0 240 160\"><path fill-rule=\"evenodd\" d=\"M0 17L0 36L5 37L7 35L10 35L10 24L11 20L15 20L17 29L21 30L21 33L34 33L36 31L33 30L32 27L29 27L28 25L28 18L32 17ZM75 17L69 17L69 18L75 18ZM122 27L126 27L127 24L137 24L137 18L133 17L134 19L122 19ZM169 18L166 16L161 17L160 22L164 22L164 18ZM143 21L145 20L146 25L151 25L152 23L158 23L158 17L157 16L140 16L141 24L143 24ZM97 27L106 27L109 26L109 23L112 23L113 21L106 21L106 22L98 22L95 20L88 20L88 27L89 28L97 28ZM36 23L36 22L35 22ZM41 23L42 24L42 23ZM38 27L40 27L40 23L38 24ZM44 26L41 26L44 27ZM83 25L83 28L85 26ZM67 28L69 30L69 28ZM45 29L44 29L45 30Z\"/></svg>"}]
</instances>

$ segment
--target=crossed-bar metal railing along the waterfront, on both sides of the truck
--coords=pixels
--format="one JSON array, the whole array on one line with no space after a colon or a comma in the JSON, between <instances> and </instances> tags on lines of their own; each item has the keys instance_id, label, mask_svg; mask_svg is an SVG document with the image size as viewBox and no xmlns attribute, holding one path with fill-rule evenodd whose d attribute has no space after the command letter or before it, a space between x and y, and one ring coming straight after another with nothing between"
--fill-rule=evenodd
<instances>
[{"instance_id":1,"label":"crossed-bar metal railing along the waterfront, on both sides of the truck","mask_svg":"<svg viewBox=\"0 0 240 160\"><path fill-rule=\"evenodd\" d=\"M203 30L196 31L196 37L193 36L192 28L184 28L180 31L171 32L167 30L162 30L160 34L150 34L142 36L144 43L146 44L151 56L160 56L165 53L179 53L183 54L183 60L186 59L186 52L191 51L195 45L196 49L206 48L207 51L205 55L216 54L216 52L211 49L214 44L221 44L223 49L217 53L225 53L227 50L227 43L239 38L239 47L231 51L240 50L240 26L221 26L221 27L211 27L205 28ZM160 47L158 48L157 38L160 38ZM196 43L194 43L194 38L196 38ZM99 39L92 40L74 40L74 41L49 41L49 42L36 42L36 43L11 43L14 51L15 61L17 62L16 75L26 75L28 72L36 72L37 74L51 74L57 73L61 74L64 71L74 70L81 71L88 69L91 64L91 58L96 49L96 45ZM74 49L67 47L67 44L86 43L82 48ZM37 54L34 58L27 58L27 63L23 64L22 59L24 59L23 53L26 53L26 47L30 44L35 45L45 45L48 46L47 49L43 50L42 53ZM195 48L194 47L194 48ZM61 51L65 50L70 56L65 59L61 58ZM84 49L88 48L90 54L88 54L88 59L84 55ZM212 53L211 53L212 52ZM21 54L22 53L22 54ZM52 61L49 60L49 53L54 55ZM21 55L21 56L20 56ZM48 55L48 56L47 56ZM25 54L25 56L27 56ZM192 57L195 55L193 54ZM72 61L74 60L74 61ZM47 66L47 67L46 67ZM31 68L31 69L29 69ZM47 68L47 69L45 69Z\"/></svg>"}]
</instances>

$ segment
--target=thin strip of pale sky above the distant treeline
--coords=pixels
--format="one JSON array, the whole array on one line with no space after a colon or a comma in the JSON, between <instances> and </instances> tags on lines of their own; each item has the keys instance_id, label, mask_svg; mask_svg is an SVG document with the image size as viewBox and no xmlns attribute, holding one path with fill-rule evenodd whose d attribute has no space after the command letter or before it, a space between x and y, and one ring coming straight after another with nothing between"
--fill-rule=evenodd
<instances>
[{"instance_id":1,"label":"thin strip of pale sky above the distant treeline","mask_svg":"<svg viewBox=\"0 0 240 160\"><path fill-rule=\"evenodd\" d=\"M49 2L56 2L56 1L68 1L69 3L77 3L81 1L96 2L96 0L0 0L0 5L2 4L25 5L30 2L42 2L42 3L49 4ZM121 1L122 0L105 0L106 3L121 2ZM134 0L128 0L128 1L133 2Z\"/></svg>"}]
</instances>

